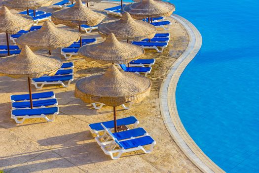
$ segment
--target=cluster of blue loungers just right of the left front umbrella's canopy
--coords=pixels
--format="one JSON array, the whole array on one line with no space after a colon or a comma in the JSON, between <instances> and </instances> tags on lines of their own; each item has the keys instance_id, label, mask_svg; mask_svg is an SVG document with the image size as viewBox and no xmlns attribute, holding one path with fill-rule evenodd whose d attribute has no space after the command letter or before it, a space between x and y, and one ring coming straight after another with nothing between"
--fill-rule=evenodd
<instances>
[{"instance_id":1,"label":"cluster of blue loungers just right of the left front umbrella's canopy","mask_svg":"<svg viewBox=\"0 0 259 173\"><path fill-rule=\"evenodd\" d=\"M71 82L74 81L74 64L73 62L63 63L61 68L57 71L54 76L42 76L40 78L33 78L32 84L37 88L41 89L45 85L60 84L63 87L70 86Z\"/></svg>"}]
</instances>

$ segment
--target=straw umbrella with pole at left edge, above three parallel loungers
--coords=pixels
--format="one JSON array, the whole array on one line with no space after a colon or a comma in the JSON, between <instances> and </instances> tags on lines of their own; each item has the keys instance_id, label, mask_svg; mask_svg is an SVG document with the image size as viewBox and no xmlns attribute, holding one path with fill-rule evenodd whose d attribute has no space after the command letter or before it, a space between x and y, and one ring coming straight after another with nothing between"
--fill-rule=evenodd
<instances>
[{"instance_id":1,"label":"straw umbrella with pole at left edge, above three parallel loungers","mask_svg":"<svg viewBox=\"0 0 259 173\"><path fill-rule=\"evenodd\" d=\"M31 79L43 75L54 75L61 67L62 62L58 57L38 55L25 45L21 53L14 56L0 58L0 75L11 78L27 77L31 109L33 108Z\"/></svg>"}]
</instances>

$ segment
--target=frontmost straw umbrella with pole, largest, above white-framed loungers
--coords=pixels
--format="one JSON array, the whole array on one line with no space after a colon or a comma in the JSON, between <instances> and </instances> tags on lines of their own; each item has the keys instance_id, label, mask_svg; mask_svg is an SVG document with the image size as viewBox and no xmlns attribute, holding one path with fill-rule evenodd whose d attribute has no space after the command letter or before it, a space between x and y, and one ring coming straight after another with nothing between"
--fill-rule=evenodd
<instances>
[{"instance_id":1,"label":"frontmost straw umbrella with pole, largest, above white-framed loungers","mask_svg":"<svg viewBox=\"0 0 259 173\"><path fill-rule=\"evenodd\" d=\"M86 103L101 102L113 107L116 131L116 106L127 101L139 103L149 95L151 81L139 74L120 72L115 65L105 74L80 79L74 95Z\"/></svg>"}]
</instances>

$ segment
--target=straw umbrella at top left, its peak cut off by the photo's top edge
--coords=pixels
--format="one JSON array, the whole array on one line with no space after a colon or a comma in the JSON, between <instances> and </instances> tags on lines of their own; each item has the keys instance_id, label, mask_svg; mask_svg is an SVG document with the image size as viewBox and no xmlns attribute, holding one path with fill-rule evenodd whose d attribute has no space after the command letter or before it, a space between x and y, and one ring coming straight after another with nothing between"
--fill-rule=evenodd
<instances>
[{"instance_id":1,"label":"straw umbrella at top left, its peak cut off by the photo's top edge","mask_svg":"<svg viewBox=\"0 0 259 173\"><path fill-rule=\"evenodd\" d=\"M41 6L50 5L52 0L6 0L3 2L4 6L7 6L10 9L16 9L18 11L27 10L27 14L29 15L29 9L34 10Z\"/></svg>"}]
</instances>

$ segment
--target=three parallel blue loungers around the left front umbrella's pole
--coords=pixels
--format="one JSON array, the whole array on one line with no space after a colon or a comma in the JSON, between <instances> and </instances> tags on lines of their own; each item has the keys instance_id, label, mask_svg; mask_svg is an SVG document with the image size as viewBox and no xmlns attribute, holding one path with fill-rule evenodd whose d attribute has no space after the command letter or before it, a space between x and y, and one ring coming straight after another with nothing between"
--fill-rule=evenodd
<instances>
[{"instance_id":1,"label":"three parallel blue loungers around the left front umbrella's pole","mask_svg":"<svg viewBox=\"0 0 259 173\"><path fill-rule=\"evenodd\" d=\"M31 109L29 94L11 95L10 98L12 102L11 118L17 124L30 118L44 118L47 122L52 122L59 113L58 101L53 91L33 93L33 109ZM52 116L52 118L49 119L47 116Z\"/></svg>"}]
</instances>

